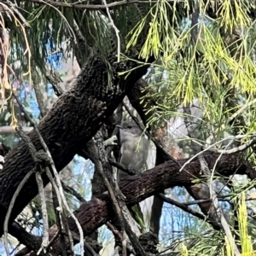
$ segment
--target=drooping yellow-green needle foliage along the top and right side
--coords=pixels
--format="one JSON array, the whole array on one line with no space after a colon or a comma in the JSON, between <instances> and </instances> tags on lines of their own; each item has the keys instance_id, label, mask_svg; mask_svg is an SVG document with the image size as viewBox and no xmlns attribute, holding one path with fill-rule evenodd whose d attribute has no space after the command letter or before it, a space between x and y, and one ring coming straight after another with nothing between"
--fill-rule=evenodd
<instances>
[{"instance_id":1,"label":"drooping yellow-green needle foliage along the top and right side","mask_svg":"<svg viewBox=\"0 0 256 256\"><path fill-rule=\"evenodd\" d=\"M252 0L148 0L117 4L108 9L109 14L106 9L67 7L65 4L73 4L72 0L56 2L62 6L49 1L16 2L29 26L23 26L17 19L4 24L10 36L8 63L20 61L19 74L30 82L34 73L46 80L46 57L53 54L45 48L49 38L55 43L56 52L73 51L81 67L88 60L90 49L100 52L102 59L107 61L109 51L120 41L118 55L121 61L132 61L131 49L136 49L140 55L140 66L152 56L156 60L146 77L148 87L141 99L147 102L151 98L155 102L154 107L148 109L148 125L166 125L173 117L192 118L177 112L177 108L191 106L197 99L203 114L197 126L198 137L194 139L201 144L205 145L209 137L212 137L210 143L216 143L227 134L234 134L243 135L237 142L241 145L255 133L256 4ZM86 3L100 4L102 1ZM112 22L118 32L114 31ZM83 44L78 44L79 40ZM112 75L112 67L108 65L109 78ZM223 143L216 145L217 148L222 146ZM255 165L253 149L247 149L244 155ZM238 214L236 232L244 255L253 255L249 236L255 236L255 222L242 222L247 209L241 194L249 193L254 186L255 182L235 184L233 191L232 200L241 200L240 209L243 209ZM234 212L230 208L225 210L235 222ZM54 223L53 209L50 213L50 222ZM184 239L182 236L172 239L170 250L179 249L179 254L175 255L182 255L181 251L183 255L233 255L232 245L225 240L224 233L215 230L201 233L200 230L205 231L210 226L197 219L191 226L194 230L185 226L180 229ZM248 235L247 230L251 234ZM182 242L186 246L182 247Z\"/></svg>"}]
</instances>

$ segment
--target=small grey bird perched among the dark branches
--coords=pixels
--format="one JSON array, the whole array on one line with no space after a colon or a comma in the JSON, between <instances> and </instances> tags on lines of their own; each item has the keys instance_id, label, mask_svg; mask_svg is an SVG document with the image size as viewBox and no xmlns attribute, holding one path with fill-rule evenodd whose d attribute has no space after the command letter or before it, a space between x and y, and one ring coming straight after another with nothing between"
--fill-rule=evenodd
<instances>
[{"instance_id":1,"label":"small grey bird perched among the dark branches","mask_svg":"<svg viewBox=\"0 0 256 256\"><path fill-rule=\"evenodd\" d=\"M142 172L148 157L148 139L142 136L143 131L134 122L123 121L121 125L116 126L120 129L121 141L122 155L119 163ZM118 171L118 181L125 176L125 172Z\"/></svg>"}]
</instances>

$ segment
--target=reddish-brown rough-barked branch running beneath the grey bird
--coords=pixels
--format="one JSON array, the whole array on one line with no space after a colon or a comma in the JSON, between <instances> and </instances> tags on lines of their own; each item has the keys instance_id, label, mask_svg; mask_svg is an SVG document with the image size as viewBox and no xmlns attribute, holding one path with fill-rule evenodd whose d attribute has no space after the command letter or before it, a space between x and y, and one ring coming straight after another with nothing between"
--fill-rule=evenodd
<instances>
[{"instance_id":1,"label":"reddish-brown rough-barked branch running beneath the grey bird","mask_svg":"<svg viewBox=\"0 0 256 256\"><path fill-rule=\"evenodd\" d=\"M219 154L215 153L204 154L209 168L213 168L218 156ZM127 205L134 205L151 195L159 194L162 189L174 186L187 187L193 184L192 182L195 178L201 177L200 163L195 160L189 163L182 172L179 172L180 165L183 166L185 162L186 160L177 160L177 163L175 163L170 160L140 175L126 177L124 181L119 183L119 187L125 195ZM237 154L223 155L218 160L216 171L224 176L229 176L236 172L236 174L247 174L251 178L255 177L253 168L247 167L246 164L242 163ZM84 236L90 235L91 232L114 217L111 201L107 193L99 195L88 203L84 203L74 214L79 219ZM68 218L68 224L70 230L78 233L72 218ZM56 254L59 252L60 247L55 244L51 253Z\"/></svg>"}]
</instances>

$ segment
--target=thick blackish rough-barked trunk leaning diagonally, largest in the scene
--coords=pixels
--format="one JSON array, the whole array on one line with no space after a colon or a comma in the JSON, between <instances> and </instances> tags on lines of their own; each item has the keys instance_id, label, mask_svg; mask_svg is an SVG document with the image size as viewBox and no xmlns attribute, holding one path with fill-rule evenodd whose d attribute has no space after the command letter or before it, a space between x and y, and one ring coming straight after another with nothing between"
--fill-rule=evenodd
<instances>
[{"instance_id":1,"label":"thick blackish rough-barked trunk leaning diagonally, largest in the scene","mask_svg":"<svg viewBox=\"0 0 256 256\"><path fill-rule=\"evenodd\" d=\"M96 134L104 119L122 101L125 90L130 90L147 68L139 68L124 79L118 73L130 70L137 64L132 61L116 63L114 52L108 56L108 61L112 67L111 84L108 84L109 67L99 55L92 55L73 88L60 96L38 125L58 172ZM43 149L35 131L30 132L29 137L37 150ZM0 236L3 235L4 217L15 189L33 166L32 157L23 142L17 143L5 156L3 170L0 171ZM45 175L43 178L44 184L48 183ZM32 176L16 199L10 223L37 194L35 177Z\"/></svg>"}]
</instances>

